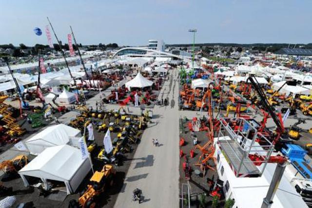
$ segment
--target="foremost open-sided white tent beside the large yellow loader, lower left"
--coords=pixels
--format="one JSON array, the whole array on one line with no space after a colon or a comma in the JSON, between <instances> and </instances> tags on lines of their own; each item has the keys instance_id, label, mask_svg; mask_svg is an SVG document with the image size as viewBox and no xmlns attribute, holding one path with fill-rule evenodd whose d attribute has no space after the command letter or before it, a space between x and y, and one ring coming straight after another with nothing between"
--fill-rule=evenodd
<instances>
[{"instance_id":1,"label":"foremost open-sided white tent beside the large yellow loader, lower left","mask_svg":"<svg viewBox=\"0 0 312 208\"><path fill-rule=\"evenodd\" d=\"M25 176L40 178L47 187L48 180L62 181L67 194L74 193L91 170L88 158L81 159L79 149L69 145L49 147L19 171L24 185L29 186Z\"/></svg>"}]
</instances>

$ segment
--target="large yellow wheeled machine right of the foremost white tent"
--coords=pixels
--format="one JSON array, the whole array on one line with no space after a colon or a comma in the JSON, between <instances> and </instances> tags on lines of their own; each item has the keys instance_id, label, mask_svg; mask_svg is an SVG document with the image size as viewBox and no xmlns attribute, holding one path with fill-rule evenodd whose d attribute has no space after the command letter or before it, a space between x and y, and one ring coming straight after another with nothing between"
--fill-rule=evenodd
<instances>
[{"instance_id":1,"label":"large yellow wheeled machine right of the foremost white tent","mask_svg":"<svg viewBox=\"0 0 312 208\"><path fill-rule=\"evenodd\" d=\"M87 190L79 197L81 208L95 208L95 197L104 191L108 186L113 186L116 170L112 165L104 165L101 171L96 171L90 179L91 184Z\"/></svg>"}]
</instances>

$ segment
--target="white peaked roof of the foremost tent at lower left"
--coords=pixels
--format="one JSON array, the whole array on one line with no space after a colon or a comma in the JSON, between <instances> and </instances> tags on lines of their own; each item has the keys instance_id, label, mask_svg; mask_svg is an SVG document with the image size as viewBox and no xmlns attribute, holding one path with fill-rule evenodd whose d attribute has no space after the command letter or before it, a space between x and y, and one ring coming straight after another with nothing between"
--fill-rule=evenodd
<instances>
[{"instance_id":1,"label":"white peaked roof of the foremost tent at lower left","mask_svg":"<svg viewBox=\"0 0 312 208\"><path fill-rule=\"evenodd\" d=\"M80 150L69 145L49 147L22 168L19 173L39 178L69 181L85 160L81 159Z\"/></svg>"}]
</instances>

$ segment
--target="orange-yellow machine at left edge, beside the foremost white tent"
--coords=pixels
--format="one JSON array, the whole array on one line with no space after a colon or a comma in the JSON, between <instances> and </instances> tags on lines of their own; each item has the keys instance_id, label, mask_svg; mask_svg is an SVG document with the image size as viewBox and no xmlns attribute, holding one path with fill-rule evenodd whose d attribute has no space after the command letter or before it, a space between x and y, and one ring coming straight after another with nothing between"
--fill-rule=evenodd
<instances>
[{"instance_id":1,"label":"orange-yellow machine at left edge, beside the foremost white tent","mask_svg":"<svg viewBox=\"0 0 312 208\"><path fill-rule=\"evenodd\" d=\"M15 174L28 163L25 155L16 156L12 160L5 160L0 163L0 169L6 174Z\"/></svg>"}]
</instances>

